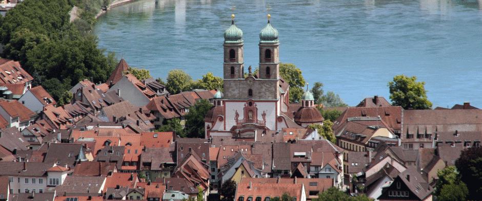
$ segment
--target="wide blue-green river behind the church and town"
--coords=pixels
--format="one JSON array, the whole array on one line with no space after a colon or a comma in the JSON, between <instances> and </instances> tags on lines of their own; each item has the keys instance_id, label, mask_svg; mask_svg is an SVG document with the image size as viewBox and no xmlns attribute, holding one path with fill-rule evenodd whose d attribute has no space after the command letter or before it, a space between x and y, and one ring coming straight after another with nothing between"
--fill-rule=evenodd
<instances>
[{"instance_id":1,"label":"wide blue-green river behind the church and town","mask_svg":"<svg viewBox=\"0 0 482 201\"><path fill-rule=\"evenodd\" d=\"M245 66L257 66L259 31L279 32L282 62L349 105L389 100L395 75L426 82L433 107L469 101L482 108L482 3L476 0L186 1L139 0L97 19L99 48L165 80L171 69L222 77L223 33L244 32ZM311 88L311 87L310 87ZM390 101L390 100L389 100Z\"/></svg>"}]
</instances>

